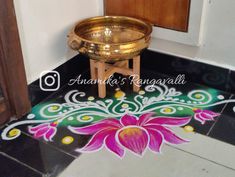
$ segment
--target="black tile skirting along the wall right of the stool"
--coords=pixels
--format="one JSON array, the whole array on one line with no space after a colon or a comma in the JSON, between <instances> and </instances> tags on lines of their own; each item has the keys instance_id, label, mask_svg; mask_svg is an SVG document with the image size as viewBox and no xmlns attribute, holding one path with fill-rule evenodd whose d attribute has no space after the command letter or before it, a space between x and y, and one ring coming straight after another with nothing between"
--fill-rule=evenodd
<instances>
[{"instance_id":1,"label":"black tile skirting along the wall right of the stool","mask_svg":"<svg viewBox=\"0 0 235 177\"><path fill-rule=\"evenodd\" d=\"M173 77L185 74L189 82L235 93L235 71L151 50L145 50L141 59L141 67L147 70Z\"/></svg>"}]
</instances>

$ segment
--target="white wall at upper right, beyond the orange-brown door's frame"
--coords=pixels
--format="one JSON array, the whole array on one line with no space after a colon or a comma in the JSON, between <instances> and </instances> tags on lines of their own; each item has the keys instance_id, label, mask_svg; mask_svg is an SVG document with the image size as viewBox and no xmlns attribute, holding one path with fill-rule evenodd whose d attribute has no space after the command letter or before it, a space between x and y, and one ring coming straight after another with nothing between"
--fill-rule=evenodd
<instances>
[{"instance_id":1,"label":"white wall at upper right, beyond the orange-brown door's frame","mask_svg":"<svg viewBox=\"0 0 235 177\"><path fill-rule=\"evenodd\" d=\"M205 17L197 58L235 70L235 1L207 0Z\"/></svg>"}]
</instances>

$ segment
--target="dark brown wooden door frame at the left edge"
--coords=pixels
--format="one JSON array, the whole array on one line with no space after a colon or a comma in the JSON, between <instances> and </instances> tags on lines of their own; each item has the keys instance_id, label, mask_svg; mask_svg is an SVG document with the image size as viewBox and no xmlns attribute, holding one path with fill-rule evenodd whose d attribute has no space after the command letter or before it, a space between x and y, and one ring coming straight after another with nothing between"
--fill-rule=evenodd
<instances>
[{"instance_id":1,"label":"dark brown wooden door frame at the left edge","mask_svg":"<svg viewBox=\"0 0 235 177\"><path fill-rule=\"evenodd\" d=\"M0 51L5 85L3 91L9 103L9 113L10 116L20 118L29 112L31 104L14 0L0 0ZM1 122L4 122L4 120L0 120Z\"/></svg>"}]
</instances>

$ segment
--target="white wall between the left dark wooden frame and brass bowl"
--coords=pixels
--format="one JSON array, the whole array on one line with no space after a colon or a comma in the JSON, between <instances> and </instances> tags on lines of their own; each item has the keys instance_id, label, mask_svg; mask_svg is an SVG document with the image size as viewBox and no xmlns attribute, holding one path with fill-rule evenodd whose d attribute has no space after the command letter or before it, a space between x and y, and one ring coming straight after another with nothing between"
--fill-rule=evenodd
<instances>
[{"instance_id":1,"label":"white wall between the left dark wooden frame and brass bowl","mask_svg":"<svg viewBox=\"0 0 235 177\"><path fill-rule=\"evenodd\" d=\"M101 15L99 0L15 0L28 83L44 70L61 65L76 53L66 35L82 18Z\"/></svg>"}]
</instances>

